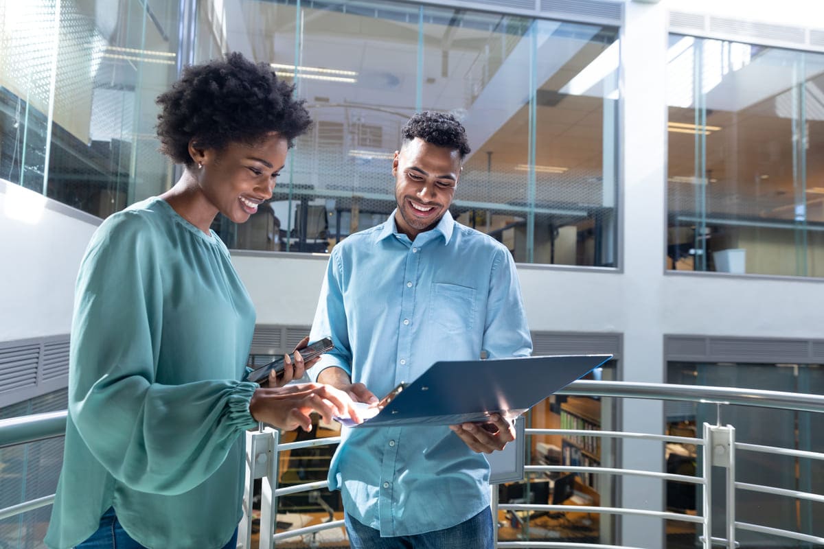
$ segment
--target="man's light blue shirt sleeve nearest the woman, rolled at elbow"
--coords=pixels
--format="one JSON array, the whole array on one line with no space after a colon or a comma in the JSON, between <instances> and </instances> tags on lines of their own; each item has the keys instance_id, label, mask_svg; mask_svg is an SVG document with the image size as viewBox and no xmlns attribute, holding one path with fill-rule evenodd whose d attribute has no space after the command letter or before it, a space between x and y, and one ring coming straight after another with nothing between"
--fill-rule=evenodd
<instances>
[{"instance_id":1,"label":"man's light blue shirt sleeve nearest the woman, rolled at elbow","mask_svg":"<svg viewBox=\"0 0 824 549\"><path fill-rule=\"evenodd\" d=\"M352 347L349 343L349 327L343 295L344 277L339 262L339 254L333 249L329 263L326 265L321 295L318 298L315 319L309 333L309 340L313 342L321 337L331 337L335 348L321 356L321 360L308 370L312 381L317 380L321 371L332 366L337 366L352 375Z\"/></svg>"}]
</instances>

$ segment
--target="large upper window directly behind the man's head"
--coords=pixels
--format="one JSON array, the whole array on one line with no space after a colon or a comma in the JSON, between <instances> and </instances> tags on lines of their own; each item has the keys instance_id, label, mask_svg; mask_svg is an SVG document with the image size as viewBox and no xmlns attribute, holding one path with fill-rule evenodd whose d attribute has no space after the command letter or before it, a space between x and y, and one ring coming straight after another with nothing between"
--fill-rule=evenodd
<instances>
[{"instance_id":1,"label":"large upper window directly behind the man's head","mask_svg":"<svg viewBox=\"0 0 824 549\"><path fill-rule=\"evenodd\" d=\"M244 0L222 17L229 48L296 82L316 120L271 210L245 226L218 217L230 247L325 252L385 221L400 128L434 109L461 119L473 149L459 222L519 262L615 266L616 29L378 1Z\"/></svg>"}]
</instances>

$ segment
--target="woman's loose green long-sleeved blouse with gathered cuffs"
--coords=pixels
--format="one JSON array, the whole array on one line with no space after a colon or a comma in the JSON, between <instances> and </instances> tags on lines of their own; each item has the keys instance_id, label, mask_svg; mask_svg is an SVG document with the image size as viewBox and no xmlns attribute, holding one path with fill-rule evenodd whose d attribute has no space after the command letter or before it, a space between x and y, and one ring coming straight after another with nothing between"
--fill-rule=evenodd
<instances>
[{"instance_id":1,"label":"woman's loose green long-sleeved blouse with gathered cuffs","mask_svg":"<svg viewBox=\"0 0 824 549\"><path fill-rule=\"evenodd\" d=\"M241 519L255 309L213 232L148 198L107 218L77 277L63 470L48 547L110 506L150 548L211 549Z\"/></svg>"}]
</instances>

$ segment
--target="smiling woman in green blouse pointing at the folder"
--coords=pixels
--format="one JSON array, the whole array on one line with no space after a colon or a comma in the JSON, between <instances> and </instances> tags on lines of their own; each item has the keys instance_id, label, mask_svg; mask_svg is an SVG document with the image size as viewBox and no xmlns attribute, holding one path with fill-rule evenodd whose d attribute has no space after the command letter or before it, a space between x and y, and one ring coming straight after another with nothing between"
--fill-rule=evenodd
<instances>
[{"instance_id":1,"label":"smiling woman in green blouse pointing at the folder","mask_svg":"<svg viewBox=\"0 0 824 549\"><path fill-rule=\"evenodd\" d=\"M83 258L49 547L235 547L244 430L309 429L312 411L357 416L325 385L241 381L255 312L209 229L218 212L241 223L271 198L311 123L292 93L230 54L187 67L157 98L162 151L185 170L106 219ZM311 366L299 352L287 362L269 385Z\"/></svg>"}]
</instances>

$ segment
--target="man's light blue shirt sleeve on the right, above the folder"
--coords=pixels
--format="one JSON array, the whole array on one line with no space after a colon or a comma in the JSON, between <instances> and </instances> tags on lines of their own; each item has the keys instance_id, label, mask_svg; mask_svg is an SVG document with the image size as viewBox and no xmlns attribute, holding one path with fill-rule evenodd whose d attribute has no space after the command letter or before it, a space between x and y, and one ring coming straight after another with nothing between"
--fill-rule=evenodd
<instances>
[{"instance_id":1,"label":"man's light blue shirt sleeve on the right, above the folder","mask_svg":"<svg viewBox=\"0 0 824 549\"><path fill-rule=\"evenodd\" d=\"M489 272L483 348L488 358L530 356L532 352L517 269L512 255L503 247L496 249Z\"/></svg>"}]
</instances>

